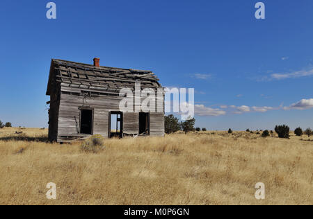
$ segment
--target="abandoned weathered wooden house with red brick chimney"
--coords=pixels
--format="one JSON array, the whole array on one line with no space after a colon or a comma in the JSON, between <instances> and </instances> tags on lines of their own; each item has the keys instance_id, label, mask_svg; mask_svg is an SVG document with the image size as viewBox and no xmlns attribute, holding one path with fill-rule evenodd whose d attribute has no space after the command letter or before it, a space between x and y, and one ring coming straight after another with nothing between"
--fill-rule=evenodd
<instances>
[{"instance_id":1,"label":"abandoned weathered wooden house with red brick chimney","mask_svg":"<svg viewBox=\"0 0 313 219\"><path fill-rule=\"evenodd\" d=\"M130 88L135 93L138 82L141 89L162 89L157 76L151 71L102 67L99 58L93 61L51 60L49 140L67 142L93 134L106 138L164 136L163 105L161 112L121 112L119 107L126 96L120 96L120 89ZM163 102L164 96L161 98Z\"/></svg>"}]
</instances>

